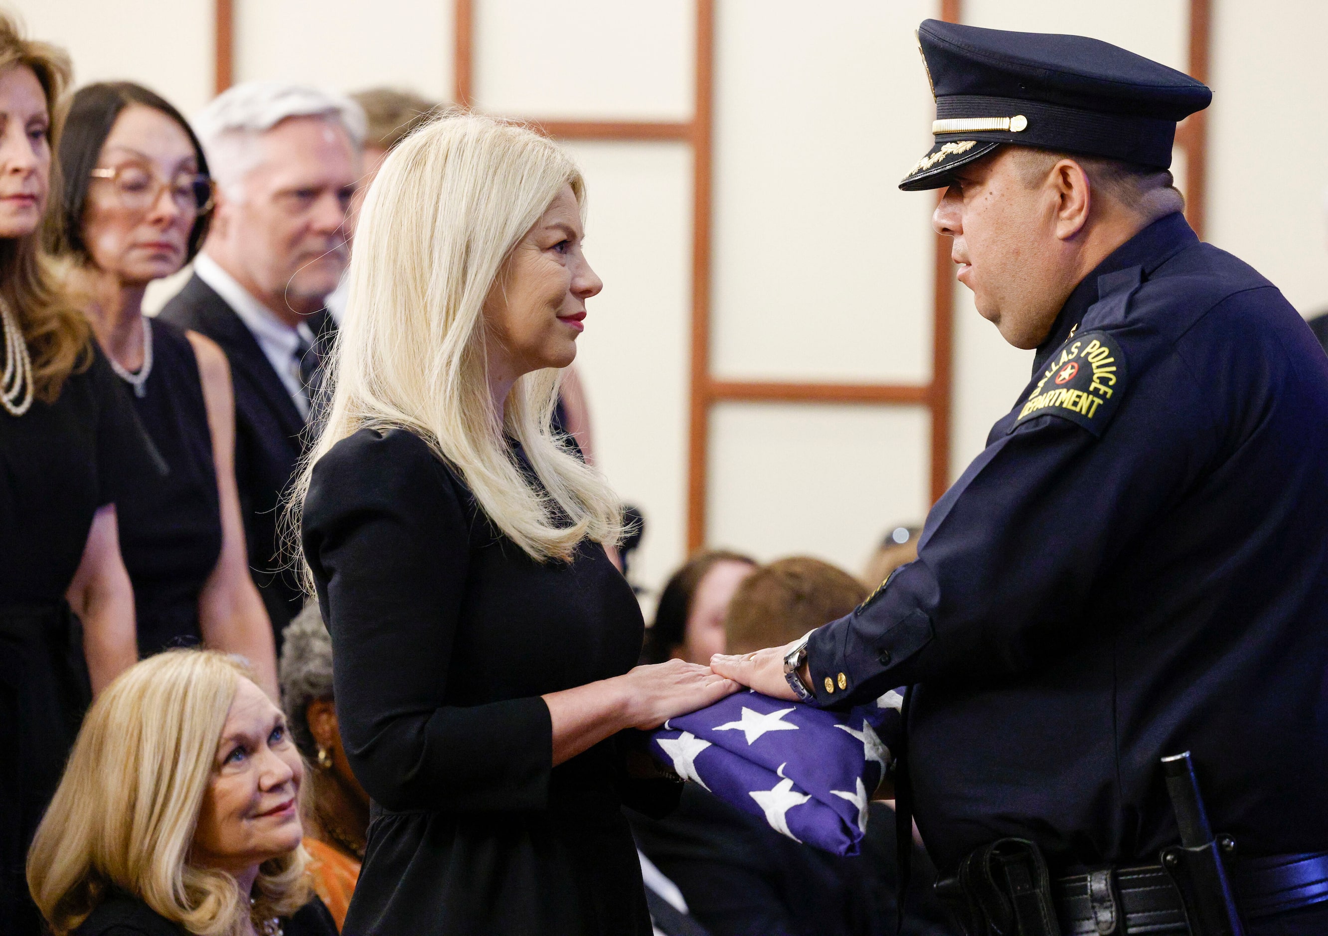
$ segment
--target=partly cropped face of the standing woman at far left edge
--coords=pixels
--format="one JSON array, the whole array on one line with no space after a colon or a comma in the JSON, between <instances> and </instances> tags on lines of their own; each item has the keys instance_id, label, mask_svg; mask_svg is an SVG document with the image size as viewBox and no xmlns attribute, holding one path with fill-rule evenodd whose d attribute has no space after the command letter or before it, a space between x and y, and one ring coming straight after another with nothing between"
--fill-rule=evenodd
<instances>
[{"instance_id":1,"label":"partly cropped face of the standing woman at far left edge","mask_svg":"<svg viewBox=\"0 0 1328 936\"><path fill-rule=\"evenodd\" d=\"M50 113L27 65L0 72L0 238L37 230L50 189Z\"/></svg>"}]
</instances>

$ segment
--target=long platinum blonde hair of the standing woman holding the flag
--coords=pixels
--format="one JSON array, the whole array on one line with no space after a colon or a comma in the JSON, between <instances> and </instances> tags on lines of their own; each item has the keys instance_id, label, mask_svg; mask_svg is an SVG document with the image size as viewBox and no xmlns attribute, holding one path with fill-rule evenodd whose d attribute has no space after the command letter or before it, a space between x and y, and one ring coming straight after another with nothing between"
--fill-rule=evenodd
<instances>
[{"instance_id":1,"label":"long platinum blonde hair of the standing woman holding the flag","mask_svg":"<svg viewBox=\"0 0 1328 936\"><path fill-rule=\"evenodd\" d=\"M356 227L325 422L296 482L296 548L313 463L365 426L420 435L537 560L568 559L587 538L616 542L616 497L550 425L560 372L521 377L501 425L489 392L485 344L495 339L485 300L563 186L584 203L584 182L563 150L475 114L428 123L388 155ZM543 491L513 462L505 434L521 442Z\"/></svg>"}]
</instances>

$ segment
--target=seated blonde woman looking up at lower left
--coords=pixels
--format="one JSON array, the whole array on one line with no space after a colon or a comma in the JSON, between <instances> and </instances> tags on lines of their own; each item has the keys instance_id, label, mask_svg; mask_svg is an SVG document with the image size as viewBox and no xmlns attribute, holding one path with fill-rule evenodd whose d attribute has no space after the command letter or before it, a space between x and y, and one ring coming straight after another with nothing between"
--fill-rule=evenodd
<instances>
[{"instance_id":1,"label":"seated blonde woman looking up at lower left","mask_svg":"<svg viewBox=\"0 0 1328 936\"><path fill-rule=\"evenodd\" d=\"M56 936L335 936L311 897L286 717L236 657L169 651L84 721L28 852Z\"/></svg>"}]
</instances>

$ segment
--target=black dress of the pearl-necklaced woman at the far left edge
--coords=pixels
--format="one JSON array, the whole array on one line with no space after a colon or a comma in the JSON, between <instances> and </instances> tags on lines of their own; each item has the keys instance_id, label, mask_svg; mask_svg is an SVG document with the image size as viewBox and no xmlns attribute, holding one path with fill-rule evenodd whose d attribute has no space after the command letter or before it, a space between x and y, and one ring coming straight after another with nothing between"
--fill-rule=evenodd
<instances>
[{"instance_id":1,"label":"black dress of the pearl-necklaced woman at the far left edge","mask_svg":"<svg viewBox=\"0 0 1328 936\"><path fill-rule=\"evenodd\" d=\"M0 409L0 921L37 933L24 862L90 700L65 592L100 507L154 474L101 352L54 404Z\"/></svg>"}]
</instances>

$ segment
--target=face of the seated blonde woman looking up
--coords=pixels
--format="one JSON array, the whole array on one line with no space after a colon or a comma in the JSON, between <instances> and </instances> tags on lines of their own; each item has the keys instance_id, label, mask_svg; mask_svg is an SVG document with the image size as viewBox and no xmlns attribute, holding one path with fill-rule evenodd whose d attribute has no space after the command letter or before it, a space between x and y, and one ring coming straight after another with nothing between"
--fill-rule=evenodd
<instances>
[{"instance_id":1,"label":"face of the seated blonde woman looking up","mask_svg":"<svg viewBox=\"0 0 1328 936\"><path fill-rule=\"evenodd\" d=\"M236 874L295 848L303 835L303 779L282 710L242 678L203 793L190 863Z\"/></svg>"}]
</instances>

